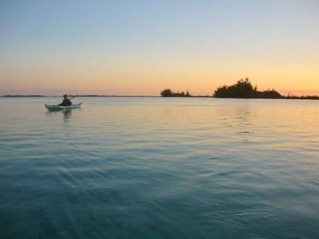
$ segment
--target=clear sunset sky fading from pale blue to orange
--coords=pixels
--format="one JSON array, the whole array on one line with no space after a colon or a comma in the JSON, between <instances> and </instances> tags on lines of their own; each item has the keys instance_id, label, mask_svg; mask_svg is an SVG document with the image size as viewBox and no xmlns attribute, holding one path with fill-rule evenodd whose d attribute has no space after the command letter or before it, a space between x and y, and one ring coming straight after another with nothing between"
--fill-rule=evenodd
<instances>
[{"instance_id":1,"label":"clear sunset sky fading from pale blue to orange","mask_svg":"<svg viewBox=\"0 0 319 239\"><path fill-rule=\"evenodd\" d=\"M0 96L319 96L317 0L0 0Z\"/></svg>"}]
</instances>

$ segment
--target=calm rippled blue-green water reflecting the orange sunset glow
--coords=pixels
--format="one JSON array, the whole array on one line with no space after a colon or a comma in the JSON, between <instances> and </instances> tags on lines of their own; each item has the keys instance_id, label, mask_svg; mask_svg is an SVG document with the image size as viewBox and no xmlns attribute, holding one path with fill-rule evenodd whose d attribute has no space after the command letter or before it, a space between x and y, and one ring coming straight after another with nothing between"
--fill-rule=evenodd
<instances>
[{"instance_id":1,"label":"calm rippled blue-green water reflecting the orange sunset glow","mask_svg":"<svg viewBox=\"0 0 319 239\"><path fill-rule=\"evenodd\" d=\"M0 98L0 238L319 238L319 101Z\"/></svg>"}]
</instances>

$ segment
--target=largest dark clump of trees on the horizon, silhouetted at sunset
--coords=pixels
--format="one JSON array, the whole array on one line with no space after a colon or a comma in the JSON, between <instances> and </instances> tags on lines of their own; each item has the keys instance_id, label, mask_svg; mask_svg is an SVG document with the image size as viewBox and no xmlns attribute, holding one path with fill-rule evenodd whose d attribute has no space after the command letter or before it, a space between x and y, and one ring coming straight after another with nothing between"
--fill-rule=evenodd
<instances>
[{"instance_id":1,"label":"largest dark clump of trees on the horizon, silhouetted at sunset","mask_svg":"<svg viewBox=\"0 0 319 239\"><path fill-rule=\"evenodd\" d=\"M213 94L216 98L283 98L275 89L257 91L257 86L252 87L249 78L238 80L236 84L218 87Z\"/></svg>"}]
</instances>

